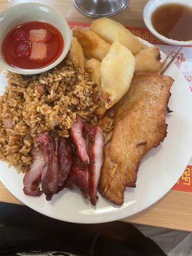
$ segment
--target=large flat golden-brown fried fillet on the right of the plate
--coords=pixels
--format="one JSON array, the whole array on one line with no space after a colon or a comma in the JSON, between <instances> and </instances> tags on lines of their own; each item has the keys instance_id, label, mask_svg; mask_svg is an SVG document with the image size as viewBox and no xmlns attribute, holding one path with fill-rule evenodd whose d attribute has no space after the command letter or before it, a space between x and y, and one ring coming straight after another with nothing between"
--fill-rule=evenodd
<instances>
[{"instance_id":1,"label":"large flat golden-brown fried fillet on the right of the plate","mask_svg":"<svg viewBox=\"0 0 192 256\"><path fill-rule=\"evenodd\" d=\"M99 191L109 201L122 205L125 187L136 187L143 156L166 136L166 108L173 79L138 72L129 92L116 104L114 129L105 147Z\"/></svg>"}]
</instances>

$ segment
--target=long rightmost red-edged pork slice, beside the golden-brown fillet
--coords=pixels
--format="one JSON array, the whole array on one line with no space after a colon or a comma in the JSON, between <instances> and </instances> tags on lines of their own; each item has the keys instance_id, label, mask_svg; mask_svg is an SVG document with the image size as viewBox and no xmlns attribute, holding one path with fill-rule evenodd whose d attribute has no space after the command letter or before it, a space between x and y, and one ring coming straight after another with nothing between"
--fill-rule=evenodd
<instances>
[{"instance_id":1,"label":"long rightmost red-edged pork slice, beside the golden-brown fillet","mask_svg":"<svg viewBox=\"0 0 192 256\"><path fill-rule=\"evenodd\" d=\"M86 136L86 141L88 141L88 154L90 157L90 201L92 205L96 205L98 200L97 186L100 178L100 170L103 164L104 136L100 127L95 127L86 123L84 123L84 134Z\"/></svg>"}]
</instances>

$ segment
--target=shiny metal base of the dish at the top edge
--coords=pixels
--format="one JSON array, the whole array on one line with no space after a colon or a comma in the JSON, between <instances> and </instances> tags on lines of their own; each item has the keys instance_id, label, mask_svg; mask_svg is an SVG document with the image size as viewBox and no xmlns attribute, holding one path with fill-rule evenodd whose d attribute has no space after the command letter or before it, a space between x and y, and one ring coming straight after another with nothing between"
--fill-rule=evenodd
<instances>
[{"instance_id":1,"label":"shiny metal base of the dish at the top edge","mask_svg":"<svg viewBox=\"0 0 192 256\"><path fill-rule=\"evenodd\" d=\"M122 12L129 4L129 0L73 0L73 3L84 15L110 17Z\"/></svg>"}]
</instances>

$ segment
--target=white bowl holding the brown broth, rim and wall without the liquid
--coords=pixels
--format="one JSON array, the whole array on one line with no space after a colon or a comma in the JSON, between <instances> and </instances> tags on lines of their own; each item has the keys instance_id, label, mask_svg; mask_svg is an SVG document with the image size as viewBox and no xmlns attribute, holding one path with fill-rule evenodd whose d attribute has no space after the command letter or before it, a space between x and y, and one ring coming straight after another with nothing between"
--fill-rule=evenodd
<instances>
[{"instance_id":1,"label":"white bowl holding the brown broth, rim and wall without the liquid","mask_svg":"<svg viewBox=\"0 0 192 256\"><path fill-rule=\"evenodd\" d=\"M154 34L157 38L159 38L161 41L163 41L166 44L170 45L192 45L192 40L190 41L177 41L170 38L166 38L165 36L159 34L156 29L154 29L154 26L152 25L152 13L154 10L162 6L163 4L184 4L189 7L192 7L192 1L191 0L150 0L145 5L145 8L143 9L143 20L145 22L145 25L147 26L148 30ZM189 24L191 26L191 24Z\"/></svg>"}]
</instances>

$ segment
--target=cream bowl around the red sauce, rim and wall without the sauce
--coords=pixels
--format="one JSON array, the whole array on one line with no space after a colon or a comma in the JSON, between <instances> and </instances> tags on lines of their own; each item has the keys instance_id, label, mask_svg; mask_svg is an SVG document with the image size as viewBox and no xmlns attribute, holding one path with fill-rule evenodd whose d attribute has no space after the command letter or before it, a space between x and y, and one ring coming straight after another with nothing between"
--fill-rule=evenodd
<instances>
[{"instance_id":1,"label":"cream bowl around the red sauce, rim and wall without the sauce","mask_svg":"<svg viewBox=\"0 0 192 256\"><path fill-rule=\"evenodd\" d=\"M7 8L0 13L0 49L4 36L6 36L11 29L29 21L47 22L55 26L63 36L64 47L58 59L56 59L53 63L44 68L36 69L14 68L6 63L0 51L0 65L7 70L23 75L39 74L50 70L51 68L54 68L56 65L58 65L67 55L72 38L72 31L70 30L66 20L60 13L56 12L55 10L44 4L22 3Z\"/></svg>"}]
</instances>

